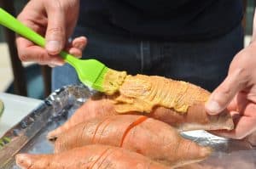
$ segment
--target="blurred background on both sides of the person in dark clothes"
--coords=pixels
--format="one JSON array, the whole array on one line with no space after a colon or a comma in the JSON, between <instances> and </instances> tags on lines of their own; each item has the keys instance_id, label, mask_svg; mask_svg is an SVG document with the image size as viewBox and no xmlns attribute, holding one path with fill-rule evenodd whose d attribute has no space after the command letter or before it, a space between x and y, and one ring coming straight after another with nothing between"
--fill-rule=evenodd
<instances>
[{"instance_id":1,"label":"blurred background on both sides of the person in dark clothes","mask_svg":"<svg viewBox=\"0 0 256 169\"><path fill-rule=\"evenodd\" d=\"M17 15L27 0L0 0L0 5ZM244 44L250 42L255 0L244 3ZM228 10L228 9L227 9ZM50 93L50 68L34 63L21 63L15 50L15 34L0 26L0 92L44 99Z\"/></svg>"}]
</instances>

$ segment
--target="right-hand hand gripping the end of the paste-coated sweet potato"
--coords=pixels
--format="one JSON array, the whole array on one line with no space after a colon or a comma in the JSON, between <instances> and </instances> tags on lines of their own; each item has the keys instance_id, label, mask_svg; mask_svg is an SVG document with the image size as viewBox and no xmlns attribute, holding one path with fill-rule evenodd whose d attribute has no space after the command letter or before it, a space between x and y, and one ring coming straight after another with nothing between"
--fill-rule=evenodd
<instances>
[{"instance_id":1,"label":"right-hand hand gripping the end of the paste-coated sweet potato","mask_svg":"<svg viewBox=\"0 0 256 169\"><path fill-rule=\"evenodd\" d=\"M210 115L227 108L236 123L231 132L218 131L226 138L245 138L256 132L256 13L253 19L253 38L230 64L228 76L212 93L206 104Z\"/></svg>"}]
</instances>

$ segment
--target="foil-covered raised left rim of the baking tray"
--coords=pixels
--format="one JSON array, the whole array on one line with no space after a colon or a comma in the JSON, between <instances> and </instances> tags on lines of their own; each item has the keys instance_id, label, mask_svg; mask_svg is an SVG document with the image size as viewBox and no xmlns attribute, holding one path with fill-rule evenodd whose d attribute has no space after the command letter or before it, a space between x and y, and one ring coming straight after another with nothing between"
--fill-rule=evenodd
<instances>
[{"instance_id":1,"label":"foil-covered raised left rim of the baking tray","mask_svg":"<svg viewBox=\"0 0 256 169\"><path fill-rule=\"evenodd\" d=\"M61 87L51 93L49 97L44 99L42 104L39 104L38 107L28 113L28 115L3 134L2 138L11 138L11 142L4 144L3 148L0 149L0 168L9 168L8 166L15 160L15 155L20 149L26 147L26 144L28 144L52 118L62 115L62 111L67 109L67 107L71 107L75 101L81 103L84 102L84 100L76 100L76 97L79 98L76 89L83 90L85 95L88 96L94 92L83 84ZM61 94L64 94L64 96L66 94L67 100L65 100L65 104L61 102L63 100L55 100L61 96ZM56 112L55 101L57 101L58 104L61 104L61 109L56 110ZM55 115L53 113L55 113Z\"/></svg>"}]
</instances>

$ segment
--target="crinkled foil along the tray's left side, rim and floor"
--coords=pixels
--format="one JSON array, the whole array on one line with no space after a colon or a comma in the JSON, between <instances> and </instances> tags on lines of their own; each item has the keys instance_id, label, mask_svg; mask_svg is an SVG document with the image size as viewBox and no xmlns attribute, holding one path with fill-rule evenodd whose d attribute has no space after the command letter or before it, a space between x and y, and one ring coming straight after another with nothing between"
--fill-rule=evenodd
<instances>
[{"instance_id":1,"label":"crinkled foil along the tray's left side, rim and floor","mask_svg":"<svg viewBox=\"0 0 256 169\"><path fill-rule=\"evenodd\" d=\"M15 154L53 152L52 144L46 134L61 126L81 104L90 98L94 91L83 85L67 86L51 93L44 104L38 106L29 115L12 127L3 137L11 142L0 149L0 168L19 168L15 166Z\"/></svg>"}]
</instances>

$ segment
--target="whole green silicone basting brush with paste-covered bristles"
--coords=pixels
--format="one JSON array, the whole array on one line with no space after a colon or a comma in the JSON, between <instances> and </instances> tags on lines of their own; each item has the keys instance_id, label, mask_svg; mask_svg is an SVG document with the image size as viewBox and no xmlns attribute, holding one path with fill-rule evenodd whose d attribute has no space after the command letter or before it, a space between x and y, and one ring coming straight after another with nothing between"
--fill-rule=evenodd
<instances>
[{"instance_id":1,"label":"whole green silicone basting brush with paste-covered bristles","mask_svg":"<svg viewBox=\"0 0 256 169\"><path fill-rule=\"evenodd\" d=\"M0 24L41 47L45 45L44 37L23 25L19 20L16 20L15 17L3 10L3 8L0 8ZM77 71L81 82L97 91L113 94L125 80L125 71L109 69L96 59L77 59L64 51L61 51L60 55L65 62L72 65Z\"/></svg>"}]
</instances>

